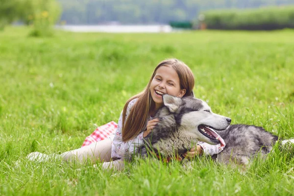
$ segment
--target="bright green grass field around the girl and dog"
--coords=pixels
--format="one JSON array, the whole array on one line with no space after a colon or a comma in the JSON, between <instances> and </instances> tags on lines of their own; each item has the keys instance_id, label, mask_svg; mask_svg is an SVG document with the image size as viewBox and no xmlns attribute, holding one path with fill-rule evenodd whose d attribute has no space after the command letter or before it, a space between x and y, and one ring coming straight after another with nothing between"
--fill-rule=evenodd
<instances>
[{"instance_id":1,"label":"bright green grass field around the girl and dog","mask_svg":"<svg viewBox=\"0 0 294 196\"><path fill-rule=\"evenodd\" d=\"M294 137L294 31L28 32L0 31L0 195L294 195L294 153L285 149L243 173L209 157L192 171L146 160L115 173L25 160L78 148L97 125L118 121L125 101L171 57L189 65L196 97L215 113Z\"/></svg>"}]
</instances>

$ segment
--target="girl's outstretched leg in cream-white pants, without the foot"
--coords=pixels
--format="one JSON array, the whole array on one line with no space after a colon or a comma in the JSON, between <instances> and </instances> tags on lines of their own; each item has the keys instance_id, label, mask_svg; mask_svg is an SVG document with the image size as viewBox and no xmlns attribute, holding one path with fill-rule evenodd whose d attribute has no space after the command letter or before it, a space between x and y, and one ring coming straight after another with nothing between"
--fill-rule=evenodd
<instances>
[{"instance_id":1,"label":"girl's outstretched leg in cream-white pants, without the foot","mask_svg":"<svg viewBox=\"0 0 294 196\"><path fill-rule=\"evenodd\" d=\"M89 146L64 152L60 156L64 161L79 161L80 163L85 163L87 159L90 159L92 163L97 160L109 162L111 159L111 139L107 138Z\"/></svg>"}]
</instances>

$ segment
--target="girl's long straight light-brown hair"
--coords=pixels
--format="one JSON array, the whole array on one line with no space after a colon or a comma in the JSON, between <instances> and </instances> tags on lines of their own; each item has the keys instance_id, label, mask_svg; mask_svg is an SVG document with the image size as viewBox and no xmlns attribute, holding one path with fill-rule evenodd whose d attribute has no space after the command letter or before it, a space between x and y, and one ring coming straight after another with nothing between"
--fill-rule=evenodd
<instances>
[{"instance_id":1,"label":"girl's long straight light-brown hair","mask_svg":"<svg viewBox=\"0 0 294 196\"><path fill-rule=\"evenodd\" d=\"M129 102L134 98L138 98L134 106L131 108L126 122L125 118L123 118L123 142L129 141L130 139L134 138L146 126L149 110L152 106L155 105L155 102L150 95L150 86L157 69L161 66L172 67L176 71L180 79L180 88L186 89L186 93L184 96L191 95L195 83L194 75L191 69L185 63L177 59L167 59L160 62L154 69L154 72L145 89L138 95L129 98L123 107L123 117L125 117L126 109Z\"/></svg>"}]
</instances>

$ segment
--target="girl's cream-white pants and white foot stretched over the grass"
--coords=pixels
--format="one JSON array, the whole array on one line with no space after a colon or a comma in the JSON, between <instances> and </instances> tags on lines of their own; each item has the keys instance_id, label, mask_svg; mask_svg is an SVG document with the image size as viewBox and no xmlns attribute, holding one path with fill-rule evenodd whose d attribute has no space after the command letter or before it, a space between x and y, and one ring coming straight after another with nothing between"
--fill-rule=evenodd
<instances>
[{"instance_id":1,"label":"girl's cream-white pants and white foot stretched over the grass","mask_svg":"<svg viewBox=\"0 0 294 196\"><path fill-rule=\"evenodd\" d=\"M92 163L96 163L96 161L99 160L101 161L103 169L121 171L124 168L123 159L115 161L111 160L111 139L109 138L93 143L89 146L64 152L58 156L61 156L64 161L78 161L82 164L86 163L87 160L90 160ZM46 161L50 157L40 152L32 152L27 155L27 158L29 160Z\"/></svg>"}]
</instances>

